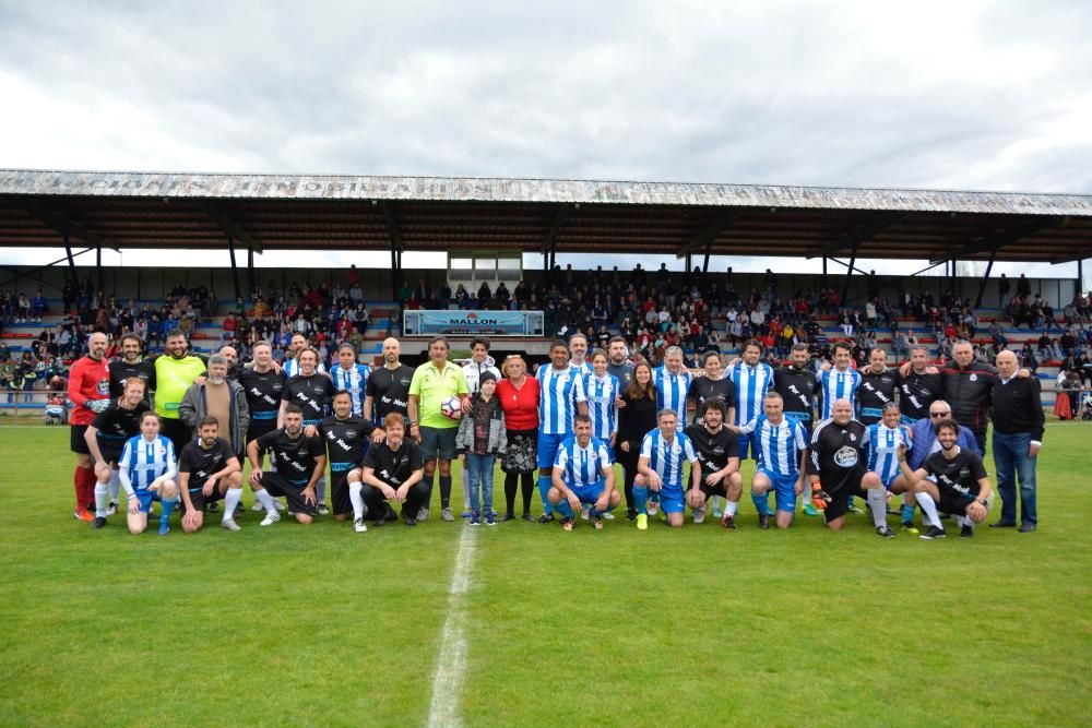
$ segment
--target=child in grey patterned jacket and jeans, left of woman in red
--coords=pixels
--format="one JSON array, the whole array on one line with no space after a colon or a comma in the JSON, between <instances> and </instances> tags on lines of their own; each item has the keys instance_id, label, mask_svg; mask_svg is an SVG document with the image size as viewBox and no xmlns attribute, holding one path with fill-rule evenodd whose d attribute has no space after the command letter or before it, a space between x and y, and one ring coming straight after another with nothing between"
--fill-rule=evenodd
<instances>
[{"instance_id":1,"label":"child in grey patterned jacket and jeans, left of woman in red","mask_svg":"<svg viewBox=\"0 0 1092 728\"><path fill-rule=\"evenodd\" d=\"M471 399L471 410L463 415L455 434L455 445L463 455L463 484L471 492L471 523L477 526L485 518L487 526L496 526L492 512L492 465L497 455L508 446L505 410L497 392L497 377L491 371L482 372L478 392ZM480 492L480 500L478 493Z\"/></svg>"}]
</instances>

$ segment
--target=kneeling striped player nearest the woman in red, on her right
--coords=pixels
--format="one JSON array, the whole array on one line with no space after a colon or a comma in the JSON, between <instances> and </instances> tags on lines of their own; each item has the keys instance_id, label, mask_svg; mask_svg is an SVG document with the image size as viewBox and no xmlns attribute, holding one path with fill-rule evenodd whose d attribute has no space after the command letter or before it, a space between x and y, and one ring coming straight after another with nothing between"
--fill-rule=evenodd
<instances>
[{"instance_id":1,"label":"kneeling striped player nearest the woman in red, on her right","mask_svg":"<svg viewBox=\"0 0 1092 728\"><path fill-rule=\"evenodd\" d=\"M587 517L596 530L603 530L603 514L617 508L621 493L615 489L614 467L607 446L592 437L592 418L577 415L574 434L566 438L554 458L550 505L561 514L561 528L572 530L575 512L587 505Z\"/></svg>"}]
</instances>

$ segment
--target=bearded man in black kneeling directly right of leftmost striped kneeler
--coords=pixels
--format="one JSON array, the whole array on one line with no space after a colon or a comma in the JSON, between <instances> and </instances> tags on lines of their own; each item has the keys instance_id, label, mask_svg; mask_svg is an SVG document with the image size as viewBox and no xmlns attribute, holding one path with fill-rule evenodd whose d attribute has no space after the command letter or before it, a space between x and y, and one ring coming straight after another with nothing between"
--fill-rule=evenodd
<instances>
[{"instance_id":1,"label":"bearded man in black kneeling directly right of leftmost striped kneeler","mask_svg":"<svg viewBox=\"0 0 1092 728\"><path fill-rule=\"evenodd\" d=\"M212 365L210 365L211 367ZM209 503L227 501L219 525L239 530L235 508L242 501L242 466L232 445L219 437L219 420L205 417L198 423L198 439L182 447L178 458L178 489L182 494L182 530L193 534L204 525Z\"/></svg>"}]
</instances>

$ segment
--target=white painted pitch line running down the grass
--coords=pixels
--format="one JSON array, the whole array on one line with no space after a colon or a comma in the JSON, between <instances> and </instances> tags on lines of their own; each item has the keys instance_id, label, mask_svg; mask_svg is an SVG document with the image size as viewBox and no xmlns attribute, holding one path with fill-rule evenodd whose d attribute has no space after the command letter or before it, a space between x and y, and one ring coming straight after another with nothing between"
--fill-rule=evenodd
<instances>
[{"instance_id":1,"label":"white painted pitch line running down the grass","mask_svg":"<svg viewBox=\"0 0 1092 728\"><path fill-rule=\"evenodd\" d=\"M428 725L436 727L461 726L459 695L466 672L466 605L471 575L474 571L476 528L465 528L459 538L455 570L448 590L448 618L440 634L440 656L432 677L432 703L428 709Z\"/></svg>"}]
</instances>

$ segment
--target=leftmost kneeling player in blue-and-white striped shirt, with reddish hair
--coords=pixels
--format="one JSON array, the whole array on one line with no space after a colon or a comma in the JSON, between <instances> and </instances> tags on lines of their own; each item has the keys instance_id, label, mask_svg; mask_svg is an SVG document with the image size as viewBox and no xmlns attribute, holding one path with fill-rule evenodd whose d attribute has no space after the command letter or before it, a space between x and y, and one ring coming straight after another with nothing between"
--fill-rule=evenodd
<instances>
[{"instance_id":1,"label":"leftmost kneeling player in blue-and-white striped shirt, with reddish hair","mask_svg":"<svg viewBox=\"0 0 1092 728\"><path fill-rule=\"evenodd\" d=\"M129 509L129 533L143 534L152 501L159 501L159 535L170 532L170 514L178 502L175 485L175 445L159 435L159 417L154 411L141 415L140 434L126 443L118 463L118 476L126 489Z\"/></svg>"}]
</instances>

